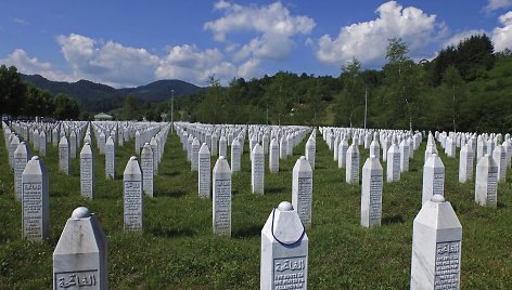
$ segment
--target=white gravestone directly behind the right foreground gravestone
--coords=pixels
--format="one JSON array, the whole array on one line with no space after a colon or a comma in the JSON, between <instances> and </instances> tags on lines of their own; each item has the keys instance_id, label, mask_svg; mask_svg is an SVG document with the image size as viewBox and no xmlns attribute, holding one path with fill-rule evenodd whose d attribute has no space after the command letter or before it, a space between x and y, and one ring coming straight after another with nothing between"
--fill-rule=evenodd
<instances>
[{"instance_id":1,"label":"white gravestone directly behind the right foreground gravestone","mask_svg":"<svg viewBox=\"0 0 512 290\"><path fill-rule=\"evenodd\" d=\"M433 154L423 166L421 203L425 203L434 195L445 195L445 166L437 154Z\"/></svg>"}]
</instances>

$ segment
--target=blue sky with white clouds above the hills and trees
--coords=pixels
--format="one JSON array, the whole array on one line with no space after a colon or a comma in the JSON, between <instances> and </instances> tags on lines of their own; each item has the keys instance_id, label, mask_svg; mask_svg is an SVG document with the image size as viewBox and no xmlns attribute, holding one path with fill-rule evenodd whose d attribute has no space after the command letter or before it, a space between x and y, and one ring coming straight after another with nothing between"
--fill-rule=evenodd
<instances>
[{"instance_id":1,"label":"blue sky with white clouds above the hills and trees","mask_svg":"<svg viewBox=\"0 0 512 290\"><path fill-rule=\"evenodd\" d=\"M2 1L0 63L51 80L116 88L215 74L279 70L338 76L353 57L381 68L387 40L413 60L487 34L512 48L512 0L431 1Z\"/></svg>"}]
</instances>

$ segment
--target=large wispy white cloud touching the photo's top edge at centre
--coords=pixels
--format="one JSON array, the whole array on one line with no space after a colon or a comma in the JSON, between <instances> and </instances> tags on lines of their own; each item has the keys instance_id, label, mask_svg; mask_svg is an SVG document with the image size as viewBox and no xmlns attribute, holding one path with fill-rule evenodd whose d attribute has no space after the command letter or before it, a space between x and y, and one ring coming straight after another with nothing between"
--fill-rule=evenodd
<instances>
[{"instance_id":1,"label":"large wispy white cloud touching the photo's top edge at centre","mask_svg":"<svg viewBox=\"0 0 512 290\"><path fill-rule=\"evenodd\" d=\"M223 12L223 16L204 24L204 29L212 30L214 39L228 43L232 48L228 35L234 32L253 32L256 37L243 44L234 54L235 60L251 56L282 61L290 56L296 35L309 35L315 21L303 15L292 15L281 2L268 5L240 5L219 1L215 9Z\"/></svg>"}]
</instances>

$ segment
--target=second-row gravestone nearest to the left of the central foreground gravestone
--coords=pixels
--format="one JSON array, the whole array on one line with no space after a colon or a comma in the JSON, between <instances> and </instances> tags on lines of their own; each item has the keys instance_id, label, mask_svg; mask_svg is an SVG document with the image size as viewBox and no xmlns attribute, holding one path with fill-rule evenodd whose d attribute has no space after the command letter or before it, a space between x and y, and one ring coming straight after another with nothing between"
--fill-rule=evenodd
<instances>
[{"instance_id":1,"label":"second-row gravestone nearest to the left of the central foreground gravestone","mask_svg":"<svg viewBox=\"0 0 512 290\"><path fill-rule=\"evenodd\" d=\"M218 236L231 236L231 169L223 156L214 167L213 227Z\"/></svg>"}]
</instances>

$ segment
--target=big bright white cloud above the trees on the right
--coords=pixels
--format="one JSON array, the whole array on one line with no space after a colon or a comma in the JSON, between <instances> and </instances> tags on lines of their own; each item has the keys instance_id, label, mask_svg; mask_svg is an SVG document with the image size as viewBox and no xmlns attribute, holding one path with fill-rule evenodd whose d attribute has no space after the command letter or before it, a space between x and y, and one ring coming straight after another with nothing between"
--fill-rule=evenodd
<instances>
[{"instance_id":1,"label":"big bright white cloud above the trees on the right","mask_svg":"<svg viewBox=\"0 0 512 290\"><path fill-rule=\"evenodd\" d=\"M331 65L343 64L353 57L364 66L382 65L388 39L401 38L414 52L446 32L444 24L436 24L436 15L414 6L404 8L396 1L383 3L375 13L379 17L373 21L342 27L335 39L329 35L320 37L313 45L317 58Z\"/></svg>"}]
</instances>

